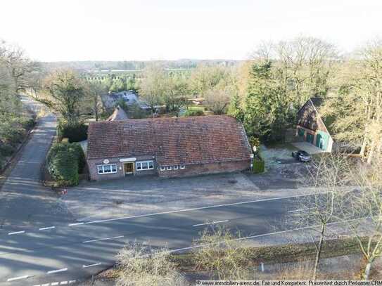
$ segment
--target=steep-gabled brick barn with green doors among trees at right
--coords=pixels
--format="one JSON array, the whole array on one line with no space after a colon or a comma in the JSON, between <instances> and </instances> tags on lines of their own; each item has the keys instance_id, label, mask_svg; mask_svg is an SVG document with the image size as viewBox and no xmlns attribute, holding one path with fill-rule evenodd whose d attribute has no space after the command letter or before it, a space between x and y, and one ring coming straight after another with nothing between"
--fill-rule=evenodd
<instances>
[{"instance_id":1,"label":"steep-gabled brick barn with green doors among trees at right","mask_svg":"<svg viewBox=\"0 0 382 286\"><path fill-rule=\"evenodd\" d=\"M319 115L318 109L321 104L321 98L310 98L298 110L296 136L326 152L331 152L333 149L333 138L328 131L324 119Z\"/></svg>"}]
</instances>

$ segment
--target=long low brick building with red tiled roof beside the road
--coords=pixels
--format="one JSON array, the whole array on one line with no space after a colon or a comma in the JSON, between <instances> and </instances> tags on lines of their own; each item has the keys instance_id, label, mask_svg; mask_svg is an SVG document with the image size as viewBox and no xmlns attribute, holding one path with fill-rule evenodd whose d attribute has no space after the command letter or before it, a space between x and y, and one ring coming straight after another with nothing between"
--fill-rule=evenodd
<instances>
[{"instance_id":1,"label":"long low brick building with red tiled roof beside the road","mask_svg":"<svg viewBox=\"0 0 382 286\"><path fill-rule=\"evenodd\" d=\"M242 124L227 115L91 122L88 130L92 180L241 171L251 154Z\"/></svg>"}]
</instances>

